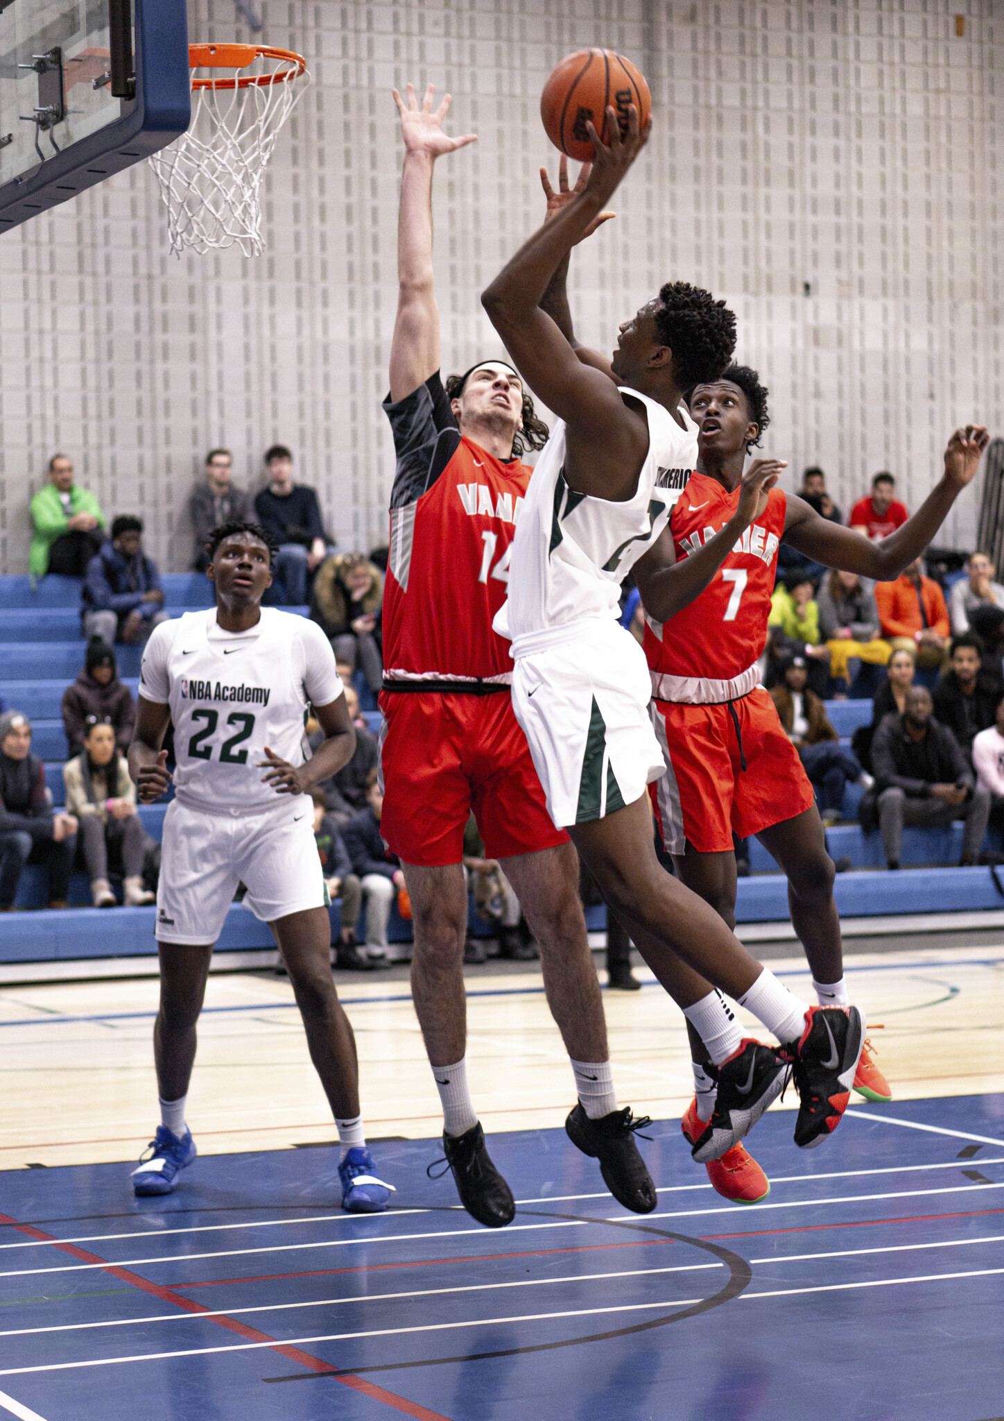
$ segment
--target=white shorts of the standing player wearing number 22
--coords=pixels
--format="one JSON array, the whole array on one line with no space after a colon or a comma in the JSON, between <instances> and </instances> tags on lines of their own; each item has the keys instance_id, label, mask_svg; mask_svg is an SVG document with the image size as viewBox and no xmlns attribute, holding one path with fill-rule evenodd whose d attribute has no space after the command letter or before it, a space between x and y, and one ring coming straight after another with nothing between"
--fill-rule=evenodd
<instances>
[{"instance_id":1,"label":"white shorts of the standing player wearing number 22","mask_svg":"<svg viewBox=\"0 0 1004 1421\"><path fill-rule=\"evenodd\" d=\"M216 942L237 884L263 922L327 905L314 804L288 796L266 814L206 814L172 800L163 817L158 942Z\"/></svg>"}]
</instances>

